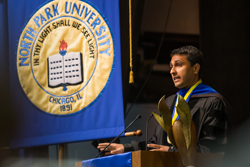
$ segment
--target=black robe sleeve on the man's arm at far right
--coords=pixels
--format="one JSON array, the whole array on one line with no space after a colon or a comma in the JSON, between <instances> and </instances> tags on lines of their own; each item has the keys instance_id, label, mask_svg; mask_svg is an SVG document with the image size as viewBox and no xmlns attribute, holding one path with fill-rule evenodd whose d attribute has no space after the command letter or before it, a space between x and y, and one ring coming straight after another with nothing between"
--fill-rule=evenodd
<instances>
[{"instance_id":1,"label":"black robe sleeve on the man's arm at far right","mask_svg":"<svg viewBox=\"0 0 250 167\"><path fill-rule=\"evenodd\" d=\"M199 138L198 152L224 152L227 144L227 113L224 103L218 97L208 98L200 113L200 124L196 128Z\"/></svg>"}]
</instances>

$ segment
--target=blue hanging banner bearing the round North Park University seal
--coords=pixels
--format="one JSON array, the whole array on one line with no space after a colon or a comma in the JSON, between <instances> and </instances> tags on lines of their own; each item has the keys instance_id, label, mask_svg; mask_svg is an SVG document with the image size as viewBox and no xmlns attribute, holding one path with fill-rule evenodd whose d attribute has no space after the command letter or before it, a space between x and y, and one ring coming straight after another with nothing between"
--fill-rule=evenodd
<instances>
[{"instance_id":1,"label":"blue hanging banner bearing the round North Park University seal","mask_svg":"<svg viewBox=\"0 0 250 167\"><path fill-rule=\"evenodd\" d=\"M118 0L9 0L12 148L124 128Z\"/></svg>"}]
</instances>

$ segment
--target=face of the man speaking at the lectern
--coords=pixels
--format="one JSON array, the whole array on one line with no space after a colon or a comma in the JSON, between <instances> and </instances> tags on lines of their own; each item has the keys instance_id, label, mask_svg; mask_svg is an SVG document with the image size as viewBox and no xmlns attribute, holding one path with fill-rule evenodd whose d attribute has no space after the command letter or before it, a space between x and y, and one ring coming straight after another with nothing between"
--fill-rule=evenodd
<instances>
[{"instance_id":1,"label":"face of the man speaking at the lectern","mask_svg":"<svg viewBox=\"0 0 250 167\"><path fill-rule=\"evenodd\" d=\"M170 74L175 87L179 89L193 86L199 79L197 70L191 67L186 55L174 55L170 62Z\"/></svg>"}]
</instances>

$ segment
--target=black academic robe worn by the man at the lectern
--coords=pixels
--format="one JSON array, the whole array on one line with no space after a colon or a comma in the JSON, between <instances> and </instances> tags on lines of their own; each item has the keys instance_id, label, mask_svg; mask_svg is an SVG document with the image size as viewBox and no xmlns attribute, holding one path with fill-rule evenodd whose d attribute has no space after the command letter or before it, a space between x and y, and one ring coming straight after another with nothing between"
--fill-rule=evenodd
<instances>
[{"instance_id":1,"label":"black academic robe worn by the man at the lectern","mask_svg":"<svg viewBox=\"0 0 250 167\"><path fill-rule=\"evenodd\" d=\"M166 99L170 111L173 111L176 97L172 95ZM229 130L227 112L231 112L226 100L220 94L208 93L191 96L188 105L196 127L197 151L224 152ZM169 151L177 151L167 142L167 134L160 125L156 127L149 143L167 145L170 147ZM145 142L136 141L124 144L125 151L145 150L145 146Z\"/></svg>"}]
</instances>

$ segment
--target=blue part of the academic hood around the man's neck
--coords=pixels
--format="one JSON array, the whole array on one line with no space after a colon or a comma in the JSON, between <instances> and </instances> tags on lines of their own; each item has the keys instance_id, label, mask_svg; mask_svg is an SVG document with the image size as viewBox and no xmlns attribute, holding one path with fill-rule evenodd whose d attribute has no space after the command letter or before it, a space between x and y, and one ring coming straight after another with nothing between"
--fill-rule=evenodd
<instances>
[{"instance_id":1,"label":"blue part of the academic hood around the man's neck","mask_svg":"<svg viewBox=\"0 0 250 167\"><path fill-rule=\"evenodd\" d=\"M188 92L190 88L186 88L186 89L180 89L179 92L176 93L176 95L181 95L183 98L186 95L186 93ZM193 91L192 93L190 93L190 95L188 96L186 102L188 103L191 96L193 95L200 95L200 94L207 94L207 93L218 93L216 90L214 90L213 88L211 88L208 85L203 85L203 83L200 83ZM176 100L177 102L177 100ZM175 102L175 106L176 106L176 102ZM173 110L173 114L172 114L172 118L174 117L174 113L175 113L175 107ZM179 115L177 116L176 119L179 119Z\"/></svg>"}]
</instances>

